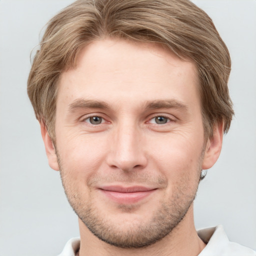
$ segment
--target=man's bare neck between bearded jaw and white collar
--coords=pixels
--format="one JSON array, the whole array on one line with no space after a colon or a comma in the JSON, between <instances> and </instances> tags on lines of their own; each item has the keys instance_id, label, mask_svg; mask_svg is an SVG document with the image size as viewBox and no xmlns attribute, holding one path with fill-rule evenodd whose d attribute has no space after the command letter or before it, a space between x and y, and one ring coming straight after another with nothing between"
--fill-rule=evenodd
<instances>
[{"instance_id":1,"label":"man's bare neck between bearded jaw and white collar","mask_svg":"<svg viewBox=\"0 0 256 256\"><path fill-rule=\"evenodd\" d=\"M193 205L184 218L161 240L143 248L119 248L101 241L94 236L79 219L80 250L79 256L196 256L205 247L198 237L193 221Z\"/></svg>"}]
</instances>

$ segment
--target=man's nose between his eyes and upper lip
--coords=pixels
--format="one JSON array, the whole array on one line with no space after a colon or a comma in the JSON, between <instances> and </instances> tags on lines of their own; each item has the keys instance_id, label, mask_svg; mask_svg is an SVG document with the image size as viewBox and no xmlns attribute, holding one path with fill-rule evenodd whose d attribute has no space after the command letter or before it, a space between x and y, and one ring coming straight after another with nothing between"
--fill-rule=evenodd
<instances>
[{"instance_id":1,"label":"man's nose between his eyes and upper lip","mask_svg":"<svg viewBox=\"0 0 256 256\"><path fill-rule=\"evenodd\" d=\"M147 164L143 134L136 125L120 125L109 141L107 164L123 171L143 169Z\"/></svg>"}]
</instances>

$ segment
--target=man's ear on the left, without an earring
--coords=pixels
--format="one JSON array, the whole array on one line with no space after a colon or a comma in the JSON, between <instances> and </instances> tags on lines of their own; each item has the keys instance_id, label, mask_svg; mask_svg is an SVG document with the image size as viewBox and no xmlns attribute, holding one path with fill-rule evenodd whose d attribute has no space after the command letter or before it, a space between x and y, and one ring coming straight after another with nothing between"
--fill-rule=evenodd
<instances>
[{"instance_id":1,"label":"man's ear on the left, without an earring","mask_svg":"<svg viewBox=\"0 0 256 256\"><path fill-rule=\"evenodd\" d=\"M53 170L59 170L55 148L43 121L40 121L40 127L49 166Z\"/></svg>"}]
</instances>

